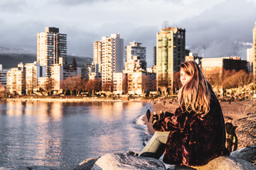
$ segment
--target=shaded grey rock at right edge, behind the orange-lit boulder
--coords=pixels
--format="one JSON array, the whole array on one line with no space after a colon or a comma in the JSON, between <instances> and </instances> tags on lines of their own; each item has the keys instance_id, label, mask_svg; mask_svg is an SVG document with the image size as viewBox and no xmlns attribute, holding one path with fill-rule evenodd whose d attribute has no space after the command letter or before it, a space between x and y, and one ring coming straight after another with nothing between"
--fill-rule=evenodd
<instances>
[{"instance_id":1,"label":"shaded grey rock at right edge, behind the orange-lit boulder","mask_svg":"<svg viewBox=\"0 0 256 170\"><path fill-rule=\"evenodd\" d=\"M230 157L244 159L247 162L253 163L256 159L256 145L231 152Z\"/></svg>"}]
</instances>

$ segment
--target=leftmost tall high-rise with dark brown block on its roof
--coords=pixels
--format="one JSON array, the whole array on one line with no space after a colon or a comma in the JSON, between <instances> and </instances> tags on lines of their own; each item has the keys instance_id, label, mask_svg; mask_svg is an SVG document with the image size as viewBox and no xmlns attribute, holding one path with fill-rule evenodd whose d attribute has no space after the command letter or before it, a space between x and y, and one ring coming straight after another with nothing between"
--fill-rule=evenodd
<instances>
[{"instance_id":1,"label":"leftmost tall high-rise with dark brown block on its roof","mask_svg":"<svg viewBox=\"0 0 256 170\"><path fill-rule=\"evenodd\" d=\"M67 35L59 33L59 28L46 27L44 33L37 34L37 62L46 66L46 77L50 77L53 64L67 64Z\"/></svg>"}]
</instances>

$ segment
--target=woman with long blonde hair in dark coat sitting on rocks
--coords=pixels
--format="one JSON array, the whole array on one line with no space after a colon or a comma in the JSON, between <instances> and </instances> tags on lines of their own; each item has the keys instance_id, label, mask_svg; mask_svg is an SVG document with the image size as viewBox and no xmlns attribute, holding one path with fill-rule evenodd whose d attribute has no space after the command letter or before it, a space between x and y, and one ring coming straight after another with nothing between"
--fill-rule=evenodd
<instances>
[{"instance_id":1,"label":"woman with long blonde hair in dark coat sitting on rocks","mask_svg":"<svg viewBox=\"0 0 256 170\"><path fill-rule=\"evenodd\" d=\"M164 163L202 166L230 152L225 148L225 124L220 103L196 62L180 64L182 87L173 116L154 123L156 130L140 157Z\"/></svg>"}]
</instances>

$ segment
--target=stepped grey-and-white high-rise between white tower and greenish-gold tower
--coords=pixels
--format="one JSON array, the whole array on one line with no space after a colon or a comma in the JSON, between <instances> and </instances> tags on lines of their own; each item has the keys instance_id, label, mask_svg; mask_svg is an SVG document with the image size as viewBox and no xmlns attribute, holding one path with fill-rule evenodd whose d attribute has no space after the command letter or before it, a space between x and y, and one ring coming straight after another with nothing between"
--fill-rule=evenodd
<instances>
[{"instance_id":1,"label":"stepped grey-and-white high-rise between white tower and greenish-gold tower","mask_svg":"<svg viewBox=\"0 0 256 170\"><path fill-rule=\"evenodd\" d=\"M142 43L129 42L125 47L125 70L146 69L146 47Z\"/></svg>"}]
</instances>

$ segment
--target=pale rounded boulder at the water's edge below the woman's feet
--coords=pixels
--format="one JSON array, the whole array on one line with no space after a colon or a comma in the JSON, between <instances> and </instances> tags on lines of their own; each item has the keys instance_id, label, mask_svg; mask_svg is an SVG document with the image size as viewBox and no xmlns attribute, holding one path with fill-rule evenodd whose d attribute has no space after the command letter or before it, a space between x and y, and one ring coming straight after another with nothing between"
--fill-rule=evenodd
<instances>
[{"instance_id":1,"label":"pale rounded boulder at the water's edge below the woman's feet","mask_svg":"<svg viewBox=\"0 0 256 170\"><path fill-rule=\"evenodd\" d=\"M122 170L122 169L146 169L166 170L163 162L148 157L137 157L129 154L105 154L97 159L93 170Z\"/></svg>"}]
</instances>

